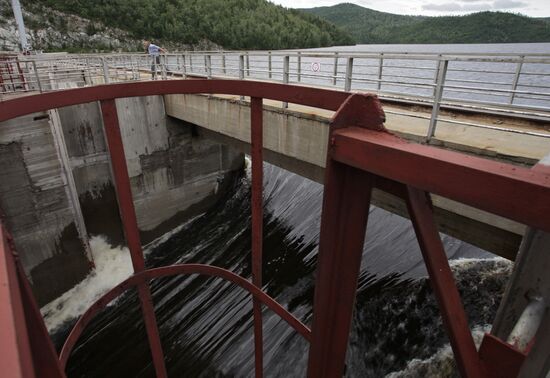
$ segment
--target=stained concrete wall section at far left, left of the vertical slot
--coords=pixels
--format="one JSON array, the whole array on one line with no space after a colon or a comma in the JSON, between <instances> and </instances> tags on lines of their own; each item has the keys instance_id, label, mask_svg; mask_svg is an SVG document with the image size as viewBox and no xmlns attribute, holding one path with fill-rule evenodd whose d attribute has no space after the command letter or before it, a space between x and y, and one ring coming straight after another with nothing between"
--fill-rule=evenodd
<instances>
[{"instance_id":1,"label":"stained concrete wall section at far left, left of the vertical slot","mask_svg":"<svg viewBox=\"0 0 550 378\"><path fill-rule=\"evenodd\" d=\"M41 303L89 270L50 122L39 113L0 124L0 209Z\"/></svg>"}]
</instances>

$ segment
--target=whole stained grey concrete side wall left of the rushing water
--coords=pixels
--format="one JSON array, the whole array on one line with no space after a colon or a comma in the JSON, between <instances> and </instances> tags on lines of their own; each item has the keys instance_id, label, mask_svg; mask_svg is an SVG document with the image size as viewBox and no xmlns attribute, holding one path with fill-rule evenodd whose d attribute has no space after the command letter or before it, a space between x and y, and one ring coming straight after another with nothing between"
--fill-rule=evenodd
<instances>
[{"instance_id":1,"label":"whole stained grey concrete side wall left of the rushing water","mask_svg":"<svg viewBox=\"0 0 550 378\"><path fill-rule=\"evenodd\" d=\"M118 99L117 108L145 244L205 211L244 159L167 117L160 96ZM0 208L41 305L90 269L79 228L124 243L97 103L0 124L0 169Z\"/></svg>"}]
</instances>

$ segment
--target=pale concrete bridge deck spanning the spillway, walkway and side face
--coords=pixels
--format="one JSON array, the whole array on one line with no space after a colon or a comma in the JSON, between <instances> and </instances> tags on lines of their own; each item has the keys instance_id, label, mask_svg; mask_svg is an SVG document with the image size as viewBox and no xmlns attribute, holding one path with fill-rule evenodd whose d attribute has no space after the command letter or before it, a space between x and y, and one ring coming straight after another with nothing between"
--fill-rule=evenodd
<instances>
[{"instance_id":1,"label":"pale concrete bridge deck spanning the spillway, walkway and side face","mask_svg":"<svg viewBox=\"0 0 550 378\"><path fill-rule=\"evenodd\" d=\"M236 96L167 95L169 116L200 126L202 132L224 143L249 148L250 107ZM385 103L386 127L402 137L424 141L429 110L418 106ZM329 120L333 112L264 100L264 148L266 161L317 182L322 182ZM428 118L424 118L428 114ZM446 122L475 122L479 128ZM516 130L502 131L501 128ZM527 135L522 132L540 135ZM532 165L550 152L549 125L511 117L446 112L431 144L487 158ZM429 174L429 172L426 172ZM452 172L449 172L452 175ZM442 232L503 257L514 259L525 226L463 204L434 196ZM377 192L374 203L406 216L405 206L391 195Z\"/></svg>"}]
</instances>

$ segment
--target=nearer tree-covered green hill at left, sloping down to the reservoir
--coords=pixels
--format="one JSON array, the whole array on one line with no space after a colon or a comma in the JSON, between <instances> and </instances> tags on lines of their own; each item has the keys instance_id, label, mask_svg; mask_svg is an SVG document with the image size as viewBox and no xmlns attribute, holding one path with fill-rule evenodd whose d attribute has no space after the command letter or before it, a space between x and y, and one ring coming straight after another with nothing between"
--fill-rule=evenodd
<instances>
[{"instance_id":1,"label":"nearer tree-covered green hill at left, sloping down to the reservoir","mask_svg":"<svg viewBox=\"0 0 550 378\"><path fill-rule=\"evenodd\" d=\"M317 16L266 0L22 0L129 31L135 38L227 49L284 49L353 44Z\"/></svg>"}]
</instances>

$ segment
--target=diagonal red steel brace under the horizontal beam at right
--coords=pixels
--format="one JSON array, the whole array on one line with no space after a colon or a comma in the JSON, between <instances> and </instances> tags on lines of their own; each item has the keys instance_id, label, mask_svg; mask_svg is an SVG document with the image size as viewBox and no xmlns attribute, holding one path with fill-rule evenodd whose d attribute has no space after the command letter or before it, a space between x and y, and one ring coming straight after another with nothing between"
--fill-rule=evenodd
<instances>
[{"instance_id":1,"label":"diagonal red steel brace under the horizontal beam at right","mask_svg":"<svg viewBox=\"0 0 550 378\"><path fill-rule=\"evenodd\" d=\"M481 363L468 319L439 237L429 195L407 187L407 208L441 310L457 366L463 377L482 377Z\"/></svg>"}]
</instances>

